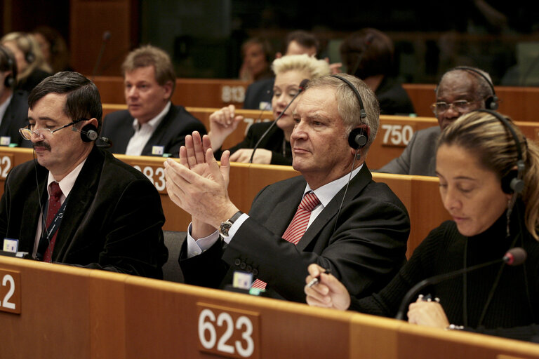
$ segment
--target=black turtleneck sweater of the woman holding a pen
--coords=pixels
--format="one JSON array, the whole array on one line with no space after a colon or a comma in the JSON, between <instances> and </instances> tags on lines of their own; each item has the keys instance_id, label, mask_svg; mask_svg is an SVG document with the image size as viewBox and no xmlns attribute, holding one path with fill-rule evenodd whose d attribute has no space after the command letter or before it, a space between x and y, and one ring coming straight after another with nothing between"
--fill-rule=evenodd
<instances>
[{"instance_id":1,"label":"black turtleneck sweater of the woman holding a pen","mask_svg":"<svg viewBox=\"0 0 539 359\"><path fill-rule=\"evenodd\" d=\"M518 236L514 244L516 247L524 248L528 254L524 265L492 264L467 273L466 296L463 275L421 291L422 294L432 294L432 297L440 298L440 304L450 323L498 335L504 335L503 331L491 329L539 323L539 306L537 306L539 303L539 243L526 230L524 220L520 223L517 221L517 218L524 217L524 208L521 203L518 207L515 208L512 216L511 233L521 231L524 233L524 236ZM515 238L514 234L506 238L505 233L505 213L484 233L473 237L461 235L455 222L444 222L429 233L387 287L371 297L352 298L350 309L378 316L394 317L401 299L420 280L462 269L465 257L467 267L501 259L511 248ZM501 266L504 266L502 275L498 285L495 285L495 278ZM481 312L484 311L487 298L494 285L493 298L486 309L484 320L479 323ZM467 311L463 311L464 300ZM530 326L529 328L535 334L539 334L537 327ZM526 337L521 332L516 335L519 338ZM508 336L512 337L512 335Z\"/></svg>"}]
</instances>

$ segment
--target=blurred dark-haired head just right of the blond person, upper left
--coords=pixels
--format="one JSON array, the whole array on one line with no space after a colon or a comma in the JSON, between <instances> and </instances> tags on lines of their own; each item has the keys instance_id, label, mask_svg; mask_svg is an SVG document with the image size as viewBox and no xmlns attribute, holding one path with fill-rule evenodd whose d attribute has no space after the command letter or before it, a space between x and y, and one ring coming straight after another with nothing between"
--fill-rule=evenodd
<instances>
[{"instance_id":1,"label":"blurred dark-haired head just right of the blond person, upper left","mask_svg":"<svg viewBox=\"0 0 539 359\"><path fill-rule=\"evenodd\" d=\"M64 38L56 29L48 26L36 27L32 32L36 39L45 62L53 73L72 71L69 66L69 50Z\"/></svg>"}]
</instances>

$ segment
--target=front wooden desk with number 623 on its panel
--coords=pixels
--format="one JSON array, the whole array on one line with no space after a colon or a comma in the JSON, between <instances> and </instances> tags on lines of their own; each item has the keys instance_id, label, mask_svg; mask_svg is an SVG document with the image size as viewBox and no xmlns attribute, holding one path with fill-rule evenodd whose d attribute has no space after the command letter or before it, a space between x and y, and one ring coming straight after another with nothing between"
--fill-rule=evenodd
<instances>
[{"instance_id":1,"label":"front wooden desk with number 623 on its panel","mask_svg":"<svg viewBox=\"0 0 539 359\"><path fill-rule=\"evenodd\" d=\"M0 311L2 358L216 358L203 344L235 354L220 358L539 357L537 344L96 269L0 257L6 275L20 313Z\"/></svg>"}]
</instances>

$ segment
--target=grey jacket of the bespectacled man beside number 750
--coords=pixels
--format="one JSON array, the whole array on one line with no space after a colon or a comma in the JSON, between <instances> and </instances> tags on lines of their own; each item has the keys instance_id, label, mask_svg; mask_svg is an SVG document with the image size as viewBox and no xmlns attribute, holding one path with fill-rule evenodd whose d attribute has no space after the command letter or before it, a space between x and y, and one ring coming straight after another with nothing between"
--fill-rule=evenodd
<instances>
[{"instance_id":1,"label":"grey jacket of the bespectacled man beside number 750","mask_svg":"<svg viewBox=\"0 0 539 359\"><path fill-rule=\"evenodd\" d=\"M415 132L401 156L392 159L378 172L396 175L436 175L436 144L440 136L439 126Z\"/></svg>"}]
</instances>

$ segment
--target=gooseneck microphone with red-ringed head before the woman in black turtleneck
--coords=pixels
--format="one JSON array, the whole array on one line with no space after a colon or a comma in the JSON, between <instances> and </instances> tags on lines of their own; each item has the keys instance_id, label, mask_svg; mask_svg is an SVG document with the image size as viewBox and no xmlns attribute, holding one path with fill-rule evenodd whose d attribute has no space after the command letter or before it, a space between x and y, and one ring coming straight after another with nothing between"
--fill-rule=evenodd
<instances>
[{"instance_id":1,"label":"gooseneck microphone with red-ringed head before the woman in black turtleneck","mask_svg":"<svg viewBox=\"0 0 539 359\"><path fill-rule=\"evenodd\" d=\"M523 264L525 261L526 261L526 251L523 248L515 247L508 250L507 253L505 253L505 255L500 259L495 259L491 262L486 262L482 264L477 264L475 266L470 266L467 268L459 269L458 271L442 273L442 274L439 274L438 276L433 276L433 277L421 280L419 283L411 287L410 290L408 290L408 292L402 299L401 306L399 306L399 311L397 312L397 316L395 316L395 319L404 320L404 311L406 311L406 307L408 306L408 303L411 302L412 297L415 294L417 294L420 290L422 290L427 285L437 284L437 283L443 282L446 279L459 276L460 274L467 273L469 271L474 271L476 269L481 269L485 266L490 266L492 264L496 264L500 262L505 262L505 264L510 265L510 266L519 266L520 264Z\"/></svg>"}]
</instances>

